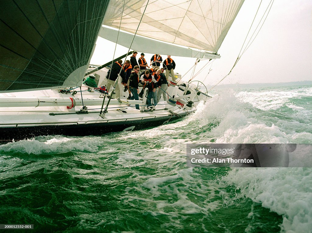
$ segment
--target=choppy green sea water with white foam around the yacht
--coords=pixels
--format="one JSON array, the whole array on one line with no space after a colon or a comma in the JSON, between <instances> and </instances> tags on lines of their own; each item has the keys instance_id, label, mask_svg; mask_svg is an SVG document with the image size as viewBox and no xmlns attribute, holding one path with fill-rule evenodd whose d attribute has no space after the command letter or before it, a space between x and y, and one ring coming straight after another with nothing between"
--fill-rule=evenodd
<instances>
[{"instance_id":1,"label":"choppy green sea water with white foam around the yacht","mask_svg":"<svg viewBox=\"0 0 312 233\"><path fill-rule=\"evenodd\" d=\"M311 143L312 87L219 89L173 124L0 145L4 232L312 232L311 168L190 168L187 143Z\"/></svg>"}]
</instances>

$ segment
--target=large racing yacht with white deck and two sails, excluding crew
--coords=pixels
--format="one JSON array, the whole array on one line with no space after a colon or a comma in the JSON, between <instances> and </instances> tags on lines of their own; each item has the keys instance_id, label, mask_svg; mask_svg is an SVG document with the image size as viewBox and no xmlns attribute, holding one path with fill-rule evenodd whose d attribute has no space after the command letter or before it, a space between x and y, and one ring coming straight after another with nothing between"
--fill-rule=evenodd
<instances>
[{"instance_id":1,"label":"large racing yacht with white deck and two sails, excluding crew","mask_svg":"<svg viewBox=\"0 0 312 233\"><path fill-rule=\"evenodd\" d=\"M1 1L1 140L139 130L188 115L211 96L199 82L180 77L168 88L170 98L150 109L147 90L142 100L101 93L109 64L116 59L90 68L96 40L113 41L129 53L218 59L243 2ZM97 88L84 83L90 74ZM117 80L115 85L121 85Z\"/></svg>"}]
</instances>

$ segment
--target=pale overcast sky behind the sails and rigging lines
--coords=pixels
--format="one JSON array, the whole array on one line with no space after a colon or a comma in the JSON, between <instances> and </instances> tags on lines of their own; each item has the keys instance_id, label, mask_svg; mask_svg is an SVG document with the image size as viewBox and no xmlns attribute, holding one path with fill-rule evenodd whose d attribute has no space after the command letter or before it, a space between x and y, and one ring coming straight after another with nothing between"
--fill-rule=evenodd
<instances>
[{"instance_id":1,"label":"pale overcast sky behind the sails and rigging lines","mask_svg":"<svg viewBox=\"0 0 312 233\"><path fill-rule=\"evenodd\" d=\"M269 2L263 0L263 7L267 7ZM212 66L208 65L195 79L203 81L211 68L204 83L213 84L230 71L241 50L259 3L260 0L245 0L218 51L221 59L216 59ZM261 12L263 13L263 9ZM114 48L114 43L99 38L91 64L101 65L111 60ZM115 57L127 51L126 48L118 46ZM148 63L151 56L145 53ZM163 59L167 58L166 55L162 56ZM172 58L176 62L175 72L180 74L186 73L195 62L194 58L175 56ZM206 62L200 61L195 73ZM188 79L190 75L189 72L185 79ZM312 1L275 0L256 39L222 84L303 80L312 80Z\"/></svg>"}]
</instances>

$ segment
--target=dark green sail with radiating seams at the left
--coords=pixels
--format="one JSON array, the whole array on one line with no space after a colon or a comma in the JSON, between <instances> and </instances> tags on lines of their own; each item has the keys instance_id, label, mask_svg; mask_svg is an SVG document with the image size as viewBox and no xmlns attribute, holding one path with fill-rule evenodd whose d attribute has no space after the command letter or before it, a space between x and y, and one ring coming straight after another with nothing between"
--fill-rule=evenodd
<instances>
[{"instance_id":1,"label":"dark green sail with radiating seams at the left","mask_svg":"<svg viewBox=\"0 0 312 233\"><path fill-rule=\"evenodd\" d=\"M0 1L0 91L77 85L108 3Z\"/></svg>"}]
</instances>

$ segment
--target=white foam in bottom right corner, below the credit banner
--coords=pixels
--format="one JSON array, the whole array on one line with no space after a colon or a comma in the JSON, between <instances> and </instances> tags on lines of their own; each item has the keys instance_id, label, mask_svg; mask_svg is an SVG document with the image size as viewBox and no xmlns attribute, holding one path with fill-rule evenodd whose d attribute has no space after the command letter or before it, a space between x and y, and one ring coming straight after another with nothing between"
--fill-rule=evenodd
<instances>
[{"instance_id":1,"label":"white foam in bottom right corner, below the credit banner","mask_svg":"<svg viewBox=\"0 0 312 233\"><path fill-rule=\"evenodd\" d=\"M222 181L236 185L242 195L282 215L282 231L311 232L311 168L233 169Z\"/></svg>"}]
</instances>

